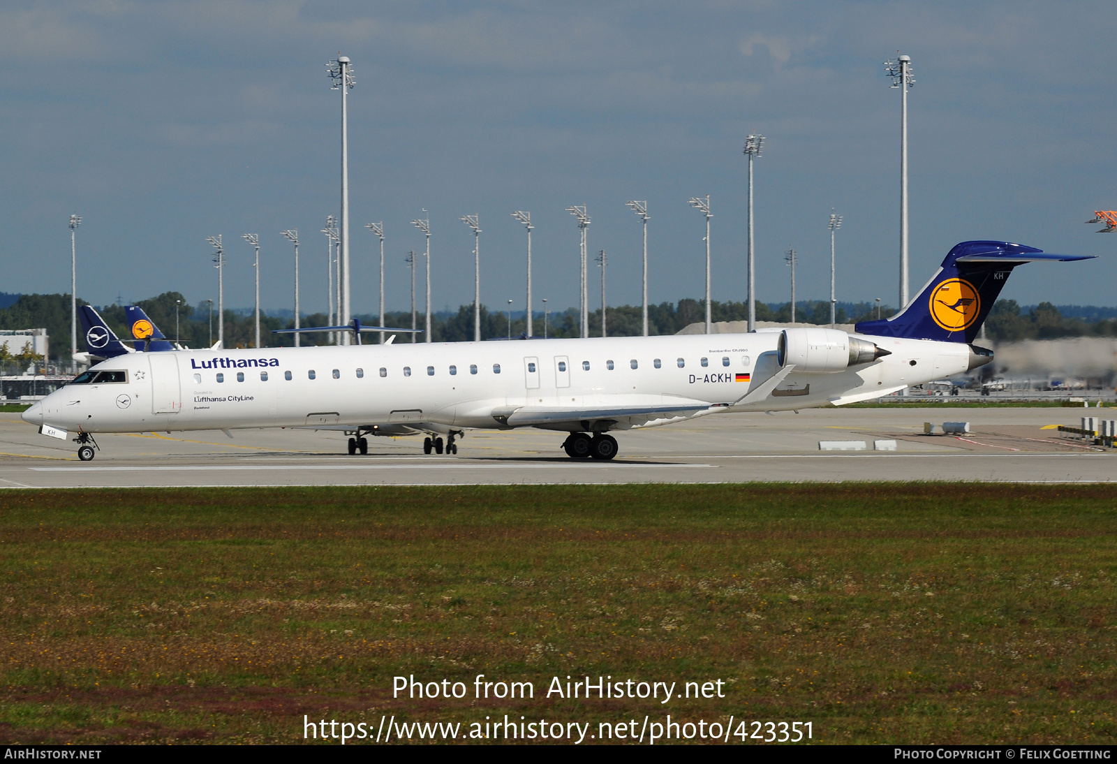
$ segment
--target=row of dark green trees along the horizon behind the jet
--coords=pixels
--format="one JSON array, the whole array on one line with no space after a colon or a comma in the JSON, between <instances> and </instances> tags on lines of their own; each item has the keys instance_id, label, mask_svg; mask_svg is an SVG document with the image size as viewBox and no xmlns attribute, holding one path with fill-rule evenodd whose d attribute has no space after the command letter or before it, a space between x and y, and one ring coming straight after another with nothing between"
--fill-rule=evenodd
<instances>
[{"instance_id":1,"label":"row of dark green trees along the horizon behind the jet","mask_svg":"<svg viewBox=\"0 0 1117 764\"><path fill-rule=\"evenodd\" d=\"M86 304L78 300L79 304ZM189 305L181 294L166 292L157 297L135 303L155 322L170 337L179 340L189 347L208 347L217 341L218 319L216 309L211 312L208 303ZM178 307L178 314L175 308ZM803 323L824 325L830 322L830 304L824 300L801 300L795 306L795 319ZM52 360L63 363L69 361L69 296L68 295L21 295L15 304L0 308L0 328L46 327L52 340ZM710 313L715 322L745 321L748 317L748 306L744 302L717 302L710 304ZM892 309L881 309L881 317L892 315ZM125 330L124 307L111 305L101 309L105 322L116 332L117 336L127 338ZM705 321L706 307L703 300L680 299L678 303L660 303L648 307L649 332L656 335L675 334L685 326ZM868 321L876 317L876 307L870 303L839 304L837 321L840 324ZM363 324L375 325L378 316L359 316ZM620 305L610 307L605 314L607 328L610 336L636 336L642 332L641 311L639 305ZM792 321L789 303L757 303L756 319L789 323ZM533 330L536 336L543 335L543 316L533 317ZM327 316L322 313L303 317L303 326L327 325ZM386 314L389 326L410 327L410 312L392 312ZM579 336L577 311L570 308L553 313L547 317L546 332L550 337ZM178 325L178 334L175 326ZM1022 311L1015 300L1001 299L993 306L986 321L986 335L996 341L1016 341L1027 338L1054 338L1067 336L1117 336L1117 319L1083 321L1063 316L1059 308L1050 303L1041 303L1027 312ZM277 316L260 317L260 340L266 347L277 347L294 344L290 335L273 334L273 330L290 328L290 318ZM417 316L417 326L423 328L423 316ZM508 314L503 311L489 311L481 306L481 337L485 340L521 336L526 328L523 315L513 317L510 325ZM462 305L456 313L440 312L432 316L431 336L435 342L459 342L474 338L474 314L471 305ZM590 335L601 334L601 309L590 313ZM374 337L374 335L373 335ZM251 347L255 340L255 319L250 312L225 312L225 338L227 347ZM422 335L416 341L422 342ZM373 338L374 341L374 338ZM325 334L304 335L303 344L326 344ZM397 342L408 342L400 336ZM86 350L84 337L78 340L78 350ZM27 364L32 359L15 356L11 363ZM0 355L0 364L3 356ZM26 367L26 365L25 365Z\"/></svg>"}]
</instances>

